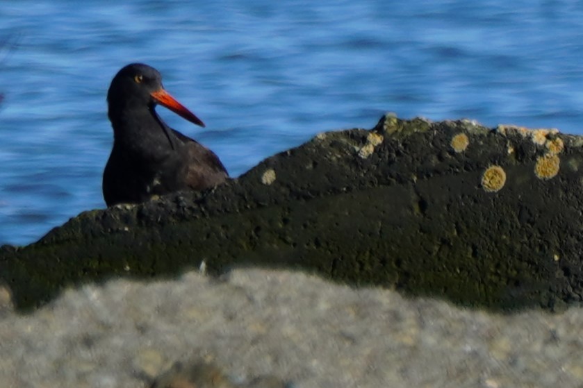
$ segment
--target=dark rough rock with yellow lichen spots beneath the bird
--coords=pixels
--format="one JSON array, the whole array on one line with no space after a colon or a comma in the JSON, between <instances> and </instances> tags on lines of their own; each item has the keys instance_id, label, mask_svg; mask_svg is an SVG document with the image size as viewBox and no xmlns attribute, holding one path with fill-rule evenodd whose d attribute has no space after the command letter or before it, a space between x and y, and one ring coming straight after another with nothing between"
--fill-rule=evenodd
<instances>
[{"instance_id":1,"label":"dark rough rock with yellow lichen spots beneath the bird","mask_svg":"<svg viewBox=\"0 0 583 388\"><path fill-rule=\"evenodd\" d=\"M66 285L202 264L302 268L463 305L582 301L583 139L383 117L322 133L202 194L80 214L0 249L19 308Z\"/></svg>"}]
</instances>

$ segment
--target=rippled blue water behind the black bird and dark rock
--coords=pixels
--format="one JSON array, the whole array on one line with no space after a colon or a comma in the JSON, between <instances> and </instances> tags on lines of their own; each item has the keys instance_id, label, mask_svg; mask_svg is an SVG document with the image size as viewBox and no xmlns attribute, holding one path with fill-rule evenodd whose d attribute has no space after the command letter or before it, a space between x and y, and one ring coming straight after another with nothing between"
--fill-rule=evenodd
<instances>
[{"instance_id":1,"label":"rippled blue water behind the black bird and dark rock","mask_svg":"<svg viewBox=\"0 0 583 388\"><path fill-rule=\"evenodd\" d=\"M583 1L0 1L0 244L104 208L106 91L146 62L238 176L386 111L582 133Z\"/></svg>"}]
</instances>

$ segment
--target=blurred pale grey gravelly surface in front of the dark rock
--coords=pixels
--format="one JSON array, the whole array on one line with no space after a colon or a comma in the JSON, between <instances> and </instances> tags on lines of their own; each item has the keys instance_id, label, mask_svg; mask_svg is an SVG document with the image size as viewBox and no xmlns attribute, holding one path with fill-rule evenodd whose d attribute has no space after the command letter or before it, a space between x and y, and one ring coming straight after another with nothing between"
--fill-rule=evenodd
<instances>
[{"instance_id":1,"label":"blurred pale grey gravelly surface in front of the dark rock","mask_svg":"<svg viewBox=\"0 0 583 388\"><path fill-rule=\"evenodd\" d=\"M583 386L577 308L504 316L259 269L86 285L29 315L0 301L2 387L149 387L190 360L226 376L197 388Z\"/></svg>"}]
</instances>

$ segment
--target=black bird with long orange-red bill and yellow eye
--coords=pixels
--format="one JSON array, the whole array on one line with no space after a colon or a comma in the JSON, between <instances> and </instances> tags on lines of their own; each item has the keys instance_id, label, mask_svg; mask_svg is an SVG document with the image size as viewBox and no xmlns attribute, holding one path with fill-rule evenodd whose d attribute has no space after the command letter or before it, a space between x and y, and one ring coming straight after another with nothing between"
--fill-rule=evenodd
<instances>
[{"instance_id":1,"label":"black bird with long orange-red bill and yellow eye","mask_svg":"<svg viewBox=\"0 0 583 388\"><path fill-rule=\"evenodd\" d=\"M217 155L167 126L154 110L165 106L199 126L204 123L162 86L154 67L132 63L122 68L107 92L113 149L104 170L108 206L138 203L179 190L204 190L229 175Z\"/></svg>"}]
</instances>

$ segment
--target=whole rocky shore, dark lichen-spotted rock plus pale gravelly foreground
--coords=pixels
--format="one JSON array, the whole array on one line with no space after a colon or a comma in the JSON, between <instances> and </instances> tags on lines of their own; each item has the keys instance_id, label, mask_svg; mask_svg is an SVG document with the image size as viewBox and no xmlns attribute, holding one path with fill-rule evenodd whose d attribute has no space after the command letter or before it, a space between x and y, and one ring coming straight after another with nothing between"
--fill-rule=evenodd
<instances>
[{"instance_id":1,"label":"whole rocky shore, dark lichen-spotted rock plus pale gravelly foreground","mask_svg":"<svg viewBox=\"0 0 583 388\"><path fill-rule=\"evenodd\" d=\"M382 117L0 247L8 387L578 387L583 137Z\"/></svg>"}]
</instances>

